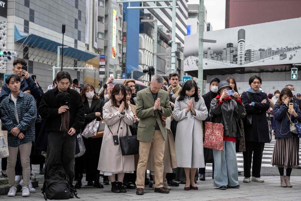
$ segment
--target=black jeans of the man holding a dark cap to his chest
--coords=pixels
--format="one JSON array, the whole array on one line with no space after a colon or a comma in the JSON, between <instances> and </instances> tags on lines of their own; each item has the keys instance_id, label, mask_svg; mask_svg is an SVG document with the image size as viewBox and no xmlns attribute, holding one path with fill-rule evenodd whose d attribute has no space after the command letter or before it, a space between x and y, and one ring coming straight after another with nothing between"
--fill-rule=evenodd
<instances>
[{"instance_id":1,"label":"black jeans of the man holding a dark cap to his chest","mask_svg":"<svg viewBox=\"0 0 301 201\"><path fill-rule=\"evenodd\" d=\"M76 133L70 136L64 132L49 132L44 177L51 167L57 163L63 166L68 177L70 188L73 188L74 180L74 156Z\"/></svg>"}]
</instances>

